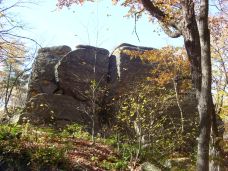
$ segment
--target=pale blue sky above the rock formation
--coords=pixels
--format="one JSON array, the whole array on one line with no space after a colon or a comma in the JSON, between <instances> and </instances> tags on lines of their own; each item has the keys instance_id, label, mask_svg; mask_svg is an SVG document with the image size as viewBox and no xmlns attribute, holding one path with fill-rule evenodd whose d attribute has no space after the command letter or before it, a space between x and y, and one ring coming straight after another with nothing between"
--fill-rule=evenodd
<instances>
[{"instance_id":1,"label":"pale blue sky above the rock formation","mask_svg":"<svg viewBox=\"0 0 228 171\"><path fill-rule=\"evenodd\" d=\"M3 1L3 5L11 3ZM112 6L110 1L99 0L96 5L85 3L70 10L56 9L56 1L33 3L14 8L12 12L25 25L21 34L36 39L44 47L65 44L75 48L78 44L89 44L112 50L121 43L155 48L182 46L183 41L169 38L146 17L137 22L139 41L134 33L134 19L124 17L128 9Z\"/></svg>"}]
</instances>

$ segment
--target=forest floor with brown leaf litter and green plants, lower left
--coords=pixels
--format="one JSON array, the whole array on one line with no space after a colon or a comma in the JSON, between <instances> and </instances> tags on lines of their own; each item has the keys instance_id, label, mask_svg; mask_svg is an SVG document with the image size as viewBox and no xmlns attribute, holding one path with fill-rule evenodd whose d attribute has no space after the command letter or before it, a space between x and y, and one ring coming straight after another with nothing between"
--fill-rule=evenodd
<instances>
[{"instance_id":1,"label":"forest floor with brown leaf litter and green plants, lower left","mask_svg":"<svg viewBox=\"0 0 228 171\"><path fill-rule=\"evenodd\" d=\"M73 132L76 131L76 134ZM56 133L31 126L0 127L0 170L125 170L113 139L96 139L74 126Z\"/></svg>"}]
</instances>

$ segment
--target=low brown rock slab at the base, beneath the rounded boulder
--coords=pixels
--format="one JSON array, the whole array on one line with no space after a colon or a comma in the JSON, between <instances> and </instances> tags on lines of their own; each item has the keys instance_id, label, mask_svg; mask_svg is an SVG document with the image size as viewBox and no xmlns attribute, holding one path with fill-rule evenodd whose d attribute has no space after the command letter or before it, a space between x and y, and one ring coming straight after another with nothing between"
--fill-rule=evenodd
<instances>
[{"instance_id":1,"label":"low brown rock slab at the base, beneath the rounded boulder","mask_svg":"<svg viewBox=\"0 0 228 171\"><path fill-rule=\"evenodd\" d=\"M38 94L27 103L20 122L25 119L37 125L53 124L58 127L72 122L88 125L87 108L85 103L71 96Z\"/></svg>"}]
</instances>

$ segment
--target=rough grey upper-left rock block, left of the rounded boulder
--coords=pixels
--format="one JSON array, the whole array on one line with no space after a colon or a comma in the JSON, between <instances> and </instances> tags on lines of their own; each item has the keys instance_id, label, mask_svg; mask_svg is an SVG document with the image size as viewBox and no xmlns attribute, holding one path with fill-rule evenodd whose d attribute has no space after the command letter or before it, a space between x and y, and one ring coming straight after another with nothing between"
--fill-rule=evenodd
<instances>
[{"instance_id":1,"label":"rough grey upper-left rock block, left of the rounded boulder","mask_svg":"<svg viewBox=\"0 0 228 171\"><path fill-rule=\"evenodd\" d=\"M55 65L69 53L68 46L41 48L32 67L27 99L39 93L53 94L58 88L55 80Z\"/></svg>"}]
</instances>

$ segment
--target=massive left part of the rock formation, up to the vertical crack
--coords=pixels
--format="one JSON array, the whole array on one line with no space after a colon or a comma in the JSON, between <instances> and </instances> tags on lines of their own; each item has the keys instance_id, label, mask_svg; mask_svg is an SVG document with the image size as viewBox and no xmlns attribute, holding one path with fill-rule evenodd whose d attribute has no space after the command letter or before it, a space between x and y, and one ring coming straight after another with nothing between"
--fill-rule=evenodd
<instances>
[{"instance_id":1,"label":"massive left part of the rock formation, up to the vertical crack","mask_svg":"<svg viewBox=\"0 0 228 171\"><path fill-rule=\"evenodd\" d=\"M27 105L20 121L99 127L106 92L108 50L92 46L42 48L34 62ZM92 107L91 107L92 106Z\"/></svg>"}]
</instances>

